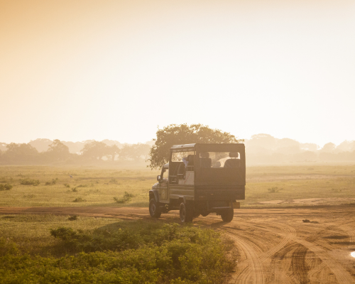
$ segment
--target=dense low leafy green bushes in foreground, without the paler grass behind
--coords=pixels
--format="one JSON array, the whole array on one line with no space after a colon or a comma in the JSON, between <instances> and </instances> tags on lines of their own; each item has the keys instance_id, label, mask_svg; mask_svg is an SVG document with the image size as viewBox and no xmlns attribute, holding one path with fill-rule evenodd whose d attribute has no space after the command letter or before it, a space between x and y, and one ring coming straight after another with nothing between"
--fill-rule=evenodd
<instances>
[{"instance_id":1,"label":"dense low leafy green bushes in foreground, without the paler grass behind","mask_svg":"<svg viewBox=\"0 0 355 284\"><path fill-rule=\"evenodd\" d=\"M0 283L222 283L234 267L219 233L209 229L153 224L50 233L75 255L31 257L8 249L0 257Z\"/></svg>"}]
</instances>

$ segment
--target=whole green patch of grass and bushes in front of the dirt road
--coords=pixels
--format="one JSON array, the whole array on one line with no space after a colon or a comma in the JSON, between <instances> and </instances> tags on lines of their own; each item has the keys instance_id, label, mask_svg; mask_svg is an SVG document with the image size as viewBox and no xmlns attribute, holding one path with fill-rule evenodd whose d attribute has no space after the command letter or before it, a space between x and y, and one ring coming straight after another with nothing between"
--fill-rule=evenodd
<instances>
[{"instance_id":1,"label":"whole green patch of grass and bushes in front of the dirt road","mask_svg":"<svg viewBox=\"0 0 355 284\"><path fill-rule=\"evenodd\" d=\"M236 263L230 241L195 226L16 215L0 229L0 283L224 283Z\"/></svg>"}]
</instances>

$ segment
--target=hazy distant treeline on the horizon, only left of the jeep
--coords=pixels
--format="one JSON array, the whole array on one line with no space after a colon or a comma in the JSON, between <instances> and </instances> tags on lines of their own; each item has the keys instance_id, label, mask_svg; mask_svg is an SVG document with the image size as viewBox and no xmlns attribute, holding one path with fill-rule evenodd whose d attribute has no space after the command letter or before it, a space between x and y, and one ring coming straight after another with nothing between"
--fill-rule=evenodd
<instances>
[{"instance_id":1,"label":"hazy distant treeline on the horizon, only left of the jeep","mask_svg":"<svg viewBox=\"0 0 355 284\"><path fill-rule=\"evenodd\" d=\"M38 152L29 143L6 144L6 151L0 151L0 164L51 164L51 163L143 163L148 159L150 146L143 143L107 146L104 142L86 143L80 153L70 153L69 148L55 139L47 151Z\"/></svg>"}]
</instances>

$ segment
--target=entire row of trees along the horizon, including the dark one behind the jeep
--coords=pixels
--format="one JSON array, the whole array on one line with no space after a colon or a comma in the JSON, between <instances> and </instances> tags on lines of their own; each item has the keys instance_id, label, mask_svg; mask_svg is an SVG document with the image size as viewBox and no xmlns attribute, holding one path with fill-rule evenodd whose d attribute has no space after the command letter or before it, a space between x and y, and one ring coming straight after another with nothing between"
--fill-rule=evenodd
<instances>
[{"instance_id":1,"label":"entire row of trees along the horizon, including the dark one behind the jeep","mask_svg":"<svg viewBox=\"0 0 355 284\"><path fill-rule=\"evenodd\" d=\"M170 147L184 143L245 143L247 165L270 165L280 163L337 163L355 162L355 141L344 141L336 146L327 143L320 148L315 143L300 143L290 138L278 139L269 134L256 134L245 141L228 132L210 129L202 124L170 124L158 129L153 145L146 143L121 144L118 141L86 141L78 153L60 140L37 139L45 144L39 152L30 143L9 143L0 150L0 164L85 164L85 163L144 163L150 168L160 168L167 163ZM32 143L35 141L31 141ZM113 144L113 142L115 144ZM70 145L66 142L67 145ZM48 145L48 146L46 146ZM4 143L1 143L4 149ZM44 148L44 147L43 147ZM42 148L42 149L43 149Z\"/></svg>"}]
</instances>

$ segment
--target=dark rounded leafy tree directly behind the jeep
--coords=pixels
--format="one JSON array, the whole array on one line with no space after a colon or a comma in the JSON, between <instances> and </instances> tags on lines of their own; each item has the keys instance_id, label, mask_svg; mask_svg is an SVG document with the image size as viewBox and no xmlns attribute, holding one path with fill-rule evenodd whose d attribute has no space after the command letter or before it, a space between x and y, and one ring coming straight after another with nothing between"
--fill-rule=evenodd
<instances>
[{"instance_id":1,"label":"dark rounded leafy tree directly behind the jeep","mask_svg":"<svg viewBox=\"0 0 355 284\"><path fill-rule=\"evenodd\" d=\"M210 129L202 124L170 124L158 129L155 143L149 152L149 168L160 168L168 163L170 148L173 145L189 143L239 143L243 140L236 138L229 132Z\"/></svg>"}]
</instances>

